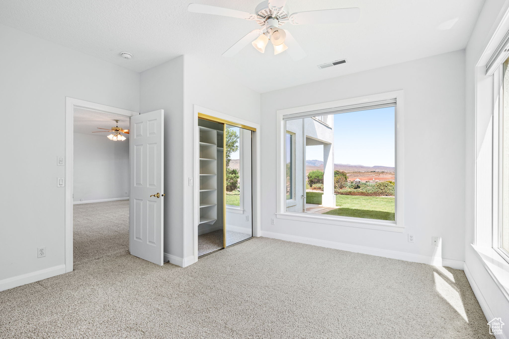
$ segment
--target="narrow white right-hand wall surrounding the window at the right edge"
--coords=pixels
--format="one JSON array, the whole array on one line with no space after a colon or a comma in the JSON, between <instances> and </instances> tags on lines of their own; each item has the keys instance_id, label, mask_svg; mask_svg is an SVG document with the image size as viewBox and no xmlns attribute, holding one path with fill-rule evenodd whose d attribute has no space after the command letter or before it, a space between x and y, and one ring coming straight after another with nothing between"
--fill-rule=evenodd
<instances>
[{"instance_id":1,"label":"narrow white right-hand wall surrounding the window at the right edge","mask_svg":"<svg viewBox=\"0 0 509 339\"><path fill-rule=\"evenodd\" d=\"M487 194L485 200L491 200L491 119L493 113L491 92L493 80L486 77L484 65L481 61L483 52L501 22L502 16L509 8L506 0L487 0L477 19L466 53L466 177L465 177L465 272L472 289L488 320L509 314L509 301L495 284L493 278L485 269L482 261L474 252L471 243L477 240L478 245L491 246L491 213L475 213L476 199ZM505 32L502 32L505 34ZM479 66L479 68L477 68ZM476 87L479 96L476 98ZM487 94L487 95L484 95ZM477 128L476 128L477 127ZM485 150L488 149L488 152ZM483 181L478 182L477 196L475 192L475 162L480 171L488 171ZM486 183L487 182L487 183ZM479 200L477 200L479 201ZM478 207L478 206L477 206ZM477 223L477 225L476 225ZM477 228L477 239L476 239ZM488 230L483 235L482 231ZM507 323L507 322L506 322ZM509 337L509 327L504 327L505 337Z\"/></svg>"}]
</instances>

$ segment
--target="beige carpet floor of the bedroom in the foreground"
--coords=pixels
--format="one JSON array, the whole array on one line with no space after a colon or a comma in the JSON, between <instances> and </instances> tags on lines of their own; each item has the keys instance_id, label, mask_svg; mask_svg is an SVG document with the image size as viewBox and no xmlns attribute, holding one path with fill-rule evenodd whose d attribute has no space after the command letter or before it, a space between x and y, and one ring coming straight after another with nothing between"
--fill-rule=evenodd
<instances>
[{"instance_id":1,"label":"beige carpet floor of the bedroom in the foreground","mask_svg":"<svg viewBox=\"0 0 509 339\"><path fill-rule=\"evenodd\" d=\"M157 266L87 238L107 254L0 292L1 338L490 337L461 270L269 238Z\"/></svg>"}]
</instances>

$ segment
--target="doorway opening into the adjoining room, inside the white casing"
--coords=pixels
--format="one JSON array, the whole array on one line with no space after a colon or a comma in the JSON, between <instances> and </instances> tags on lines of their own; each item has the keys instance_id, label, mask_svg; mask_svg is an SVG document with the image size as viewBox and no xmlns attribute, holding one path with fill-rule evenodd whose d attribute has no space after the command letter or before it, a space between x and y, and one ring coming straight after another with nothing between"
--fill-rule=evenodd
<instances>
[{"instance_id":1,"label":"doorway opening into the adjoining room, inside the white casing","mask_svg":"<svg viewBox=\"0 0 509 339\"><path fill-rule=\"evenodd\" d=\"M129 251L129 129L128 116L74 108L74 264Z\"/></svg>"}]
</instances>

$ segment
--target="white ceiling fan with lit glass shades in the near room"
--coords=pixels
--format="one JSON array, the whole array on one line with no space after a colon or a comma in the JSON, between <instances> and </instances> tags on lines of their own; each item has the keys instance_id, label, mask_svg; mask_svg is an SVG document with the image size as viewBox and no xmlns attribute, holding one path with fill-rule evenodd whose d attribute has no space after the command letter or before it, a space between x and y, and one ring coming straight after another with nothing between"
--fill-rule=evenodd
<instances>
[{"instance_id":1,"label":"white ceiling fan with lit glass shades in the near room","mask_svg":"<svg viewBox=\"0 0 509 339\"><path fill-rule=\"evenodd\" d=\"M251 30L242 39L222 55L233 56L249 42L261 53L265 52L269 40L274 46L274 54L288 49L294 60L300 60L306 53L287 29L280 28L287 22L294 25L306 23L348 23L359 19L358 8L336 8L320 11L296 12L290 14L286 0L268 0L260 3L254 10L255 14L210 5L189 4L189 12L229 16L233 18L255 20L261 28ZM254 40L256 39L256 40ZM254 40L254 41L253 41Z\"/></svg>"}]
</instances>

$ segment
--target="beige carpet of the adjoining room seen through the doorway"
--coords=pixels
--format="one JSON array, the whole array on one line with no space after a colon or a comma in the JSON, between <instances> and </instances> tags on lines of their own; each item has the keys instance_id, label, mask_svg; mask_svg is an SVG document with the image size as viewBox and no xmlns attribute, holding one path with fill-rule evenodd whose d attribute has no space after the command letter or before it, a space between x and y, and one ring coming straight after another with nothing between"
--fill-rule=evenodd
<instances>
[{"instance_id":1,"label":"beige carpet of the adjoining room seen through the doorway","mask_svg":"<svg viewBox=\"0 0 509 339\"><path fill-rule=\"evenodd\" d=\"M74 264L129 249L129 200L73 208Z\"/></svg>"}]
</instances>

